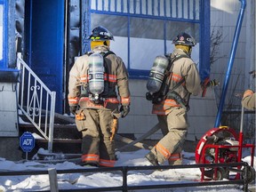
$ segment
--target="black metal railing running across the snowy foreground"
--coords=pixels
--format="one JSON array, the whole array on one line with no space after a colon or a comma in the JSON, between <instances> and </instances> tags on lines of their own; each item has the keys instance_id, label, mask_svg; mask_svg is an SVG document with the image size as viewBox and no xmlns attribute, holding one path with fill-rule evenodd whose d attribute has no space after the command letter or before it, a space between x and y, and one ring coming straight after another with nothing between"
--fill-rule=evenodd
<instances>
[{"instance_id":1,"label":"black metal railing running across the snowy foreground","mask_svg":"<svg viewBox=\"0 0 256 192\"><path fill-rule=\"evenodd\" d=\"M186 180L186 182L167 182L166 184L152 184L152 185L128 185L128 172L131 171L145 171L145 170L168 170L168 169L192 169L192 168L218 168L218 167L238 167L244 166L243 176L239 180ZM182 164L182 165L161 165L161 166L116 166L116 167L100 167L100 168L82 168L82 169L67 169L67 170L56 170L56 174L69 174L69 173L88 173L88 172L121 172L120 176L123 178L123 183L120 186L111 186L111 187L99 187L99 188L68 188L68 189L59 189L59 191L123 191L127 192L129 190L145 190L145 189L154 189L154 188L185 188L185 187L203 187L203 186L217 186L217 185L243 185L244 191L248 191L248 172L249 164L245 162L240 163L230 163L230 164ZM2 171L0 172L1 176L18 176L18 175L42 175L49 174L49 170L27 170L27 171ZM55 183L58 186L57 183ZM37 191L37 190L36 190ZM42 191L42 190L40 190ZM49 191L49 190L44 190Z\"/></svg>"}]
</instances>

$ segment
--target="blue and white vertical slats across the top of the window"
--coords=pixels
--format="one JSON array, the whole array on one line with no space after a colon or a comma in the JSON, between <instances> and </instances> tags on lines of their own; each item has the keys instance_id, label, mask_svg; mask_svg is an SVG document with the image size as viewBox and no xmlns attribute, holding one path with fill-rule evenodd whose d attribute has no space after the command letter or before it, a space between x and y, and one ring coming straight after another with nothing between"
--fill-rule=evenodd
<instances>
[{"instance_id":1,"label":"blue and white vertical slats across the top of the window","mask_svg":"<svg viewBox=\"0 0 256 192\"><path fill-rule=\"evenodd\" d=\"M200 0L96 0L92 11L199 20Z\"/></svg>"}]
</instances>

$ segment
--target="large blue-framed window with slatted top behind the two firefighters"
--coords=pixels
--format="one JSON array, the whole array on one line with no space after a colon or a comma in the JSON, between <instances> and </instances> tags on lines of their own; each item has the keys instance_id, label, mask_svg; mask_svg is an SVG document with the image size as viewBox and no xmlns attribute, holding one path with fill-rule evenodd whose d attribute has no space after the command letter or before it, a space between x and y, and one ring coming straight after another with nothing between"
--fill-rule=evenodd
<instances>
[{"instance_id":1,"label":"large blue-framed window with slatted top behind the two firefighters","mask_svg":"<svg viewBox=\"0 0 256 192\"><path fill-rule=\"evenodd\" d=\"M201 79L209 76L210 0L93 0L91 3L87 17L90 20L83 22L90 23L86 29L90 31L101 25L113 33L115 41L110 48L124 60L130 77L148 78L156 56L172 52L172 39L183 31L196 38L192 59L198 64ZM202 39L206 40L200 42ZM84 47L89 47L88 44Z\"/></svg>"}]
</instances>

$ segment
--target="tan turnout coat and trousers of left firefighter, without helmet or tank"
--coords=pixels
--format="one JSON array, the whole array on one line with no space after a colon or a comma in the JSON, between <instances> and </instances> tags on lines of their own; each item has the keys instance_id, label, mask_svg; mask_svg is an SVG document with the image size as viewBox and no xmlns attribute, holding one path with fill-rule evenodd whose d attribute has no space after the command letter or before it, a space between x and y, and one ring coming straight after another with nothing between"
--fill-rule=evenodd
<instances>
[{"instance_id":1,"label":"tan turnout coat and trousers of left firefighter, without helmet or tank","mask_svg":"<svg viewBox=\"0 0 256 192\"><path fill-rule=\"evenodd\" d=\"M89 55L84 54L76 59L69 72L68 103L69 106L78 106L79 110L76 114L83 113L84 116L82 119L76 119L76 127L83 136L82 161L84 164L111 167L116 162L115 143L114 140L110 140L111 126L116 118L115 113L118 114L119 104L130 105L128 73L120 57L113 52L108 54L108 46L97 46L93 52L106 53L104 82L107 83L108 92L104 90L104 98L99 103L90 100Z\"/></svg>"}]
</instances>

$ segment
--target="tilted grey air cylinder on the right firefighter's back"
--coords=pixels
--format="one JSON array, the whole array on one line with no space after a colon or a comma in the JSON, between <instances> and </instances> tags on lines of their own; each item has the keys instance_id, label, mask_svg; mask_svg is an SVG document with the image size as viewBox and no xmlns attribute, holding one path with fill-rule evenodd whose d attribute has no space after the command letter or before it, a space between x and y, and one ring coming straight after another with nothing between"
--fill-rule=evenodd
<instances>
[{"instance_id":1,"label":"tilted grey air cylinder on the right firefighter's back","mask_svg":"<svg viewBox=\"0 0 256 192\"><path fill-rule=\"evenodd\" d=\"M164 73L168 64L169 60L166 57L162 55L156 57L153 67L150 70L147 83L147 89L150 94L159 92L164 81Z\"/></svg>"}]
</instances>

